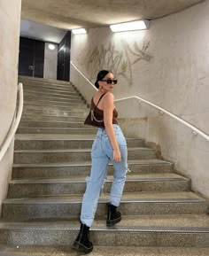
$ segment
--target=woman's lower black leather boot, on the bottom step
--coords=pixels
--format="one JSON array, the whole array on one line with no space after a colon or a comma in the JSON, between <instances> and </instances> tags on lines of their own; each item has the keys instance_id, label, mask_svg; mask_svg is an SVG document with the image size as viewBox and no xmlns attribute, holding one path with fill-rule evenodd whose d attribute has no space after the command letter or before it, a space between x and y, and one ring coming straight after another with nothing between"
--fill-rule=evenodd
<instances>
[{"instance_id":1,"label":"woman's lower black leather boot, on the bottom step","mask_svg":"<svg viewBox=\"0 0 209 256\"><path fill-rule=\"evenodd\" d=\"M73 249L86 254L93 250L93 244L89 241L89 227L85 224L81 223L81 229L74 241Z\"/></svg>"}]
</instances>

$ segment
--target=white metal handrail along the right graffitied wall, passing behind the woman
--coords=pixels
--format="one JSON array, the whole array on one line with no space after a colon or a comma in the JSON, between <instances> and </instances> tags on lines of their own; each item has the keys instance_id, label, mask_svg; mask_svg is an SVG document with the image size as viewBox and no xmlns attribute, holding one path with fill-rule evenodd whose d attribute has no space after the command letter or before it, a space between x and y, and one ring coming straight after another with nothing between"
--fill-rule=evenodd
<instances>
[{"instance_id":1,"label":"white metal handrail along the right graffitied wall, passing behind the woman","mask_svg":"<svg viewBox=\"0 0 209 256\"><path fill-rule=\"evenodd\" d=\"M87 80L89 81L88 78L85 77L84 74L81 73L81 71L78 69L78 67L76 67L74 65L74 63L71 61L71 64L75 67L75 69ZM89 83L93 85L93 83L91 81L89 81ZM178 120L179 122L181 122L183 125L187 126L188 128L190 128L192 130L192 135L193 136L197 136L197 135L200 135L202 137L204 137L207 141L209 141L209 136L207 136L204 132L202 132L201 130L199 130L198 128L190 125L190 123L188 123L187 121L185 120L182 120L182 118L178 117L177 115L174 115L174 113L171 113L171 112L168 112L166 109L160 107L159 105L154 105L153 103L151 103L150 101L148 100L145 100L143 99L142 97L137 97L137 96L132 96L132 97L123 97L123 98L120 98L120 99L116 99L115 102L118 102L118 101L121 101L121 100L128 100L130 98L136 98L139 100L139 103L141 102L144 102L145 104L147 105L151 105L152 107L156 108L159 110L159 113L162 115L163 113L166 113L167 115L171 116L172 118L174 118L174 120Z\"/></svg>"}]
</instances>

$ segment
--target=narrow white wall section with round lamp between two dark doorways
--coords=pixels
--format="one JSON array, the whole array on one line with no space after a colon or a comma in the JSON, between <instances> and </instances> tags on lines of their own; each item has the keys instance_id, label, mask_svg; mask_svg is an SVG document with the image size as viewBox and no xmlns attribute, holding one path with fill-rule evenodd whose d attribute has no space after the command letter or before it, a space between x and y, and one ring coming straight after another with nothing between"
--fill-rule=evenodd
<instances>
[{"instance_id":1,"label":"narrow white wall section with round lamp between two dark doorways","mask_svg":"<svg viewBox=\"0 0 209 256\"><path fill-rule=\"evenodd\" d=\"M58 44L53 43L54 50L49 49L50 43L45 43L43 78L57 79L58 68Z\"/></svg>"}]
</instances>

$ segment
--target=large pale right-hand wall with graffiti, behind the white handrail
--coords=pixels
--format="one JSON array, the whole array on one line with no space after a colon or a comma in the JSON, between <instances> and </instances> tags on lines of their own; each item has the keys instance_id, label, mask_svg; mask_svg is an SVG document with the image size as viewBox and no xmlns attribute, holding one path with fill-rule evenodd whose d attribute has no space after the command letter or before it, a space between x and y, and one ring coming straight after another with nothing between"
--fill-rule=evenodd
<instances>
[{"instance_id":1,"label":"large pale right-hand wall with graffiti, behind the white handrail","mask_svg":"<svg viewBox=\"0 0 209 256\"><path fill-rule=\"evenodd\" d=\"M99 70L111 69L119 79L116 99L143 97L209 135L208 10L206 1L154 20L146 31L112 34L97 28L72 35L71 58L92 82ZM209 197L209 144L204 139L134 99L116 105L127 120L121 120L127 135L160 146L164 159L192 178L193 190Z\"/></svg>"}]
</instances>

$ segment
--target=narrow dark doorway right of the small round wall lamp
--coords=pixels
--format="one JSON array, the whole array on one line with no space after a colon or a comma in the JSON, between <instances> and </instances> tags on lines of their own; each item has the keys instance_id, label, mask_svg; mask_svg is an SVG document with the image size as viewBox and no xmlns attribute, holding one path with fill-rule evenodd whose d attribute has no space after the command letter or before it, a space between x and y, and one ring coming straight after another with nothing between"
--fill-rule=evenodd
<instances>
[{"instance_id":1,"label":"narrow dark doorway right of the small round wall lamp","mask_svg":"<svg viewBox=\"0 0 209 256\"><path fill-rule=\"evenodd\" d=\"M71 31L58 44L58 80L70 80Z\"/></svg>"}]
</instances>

